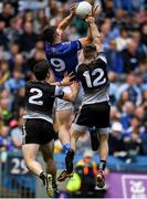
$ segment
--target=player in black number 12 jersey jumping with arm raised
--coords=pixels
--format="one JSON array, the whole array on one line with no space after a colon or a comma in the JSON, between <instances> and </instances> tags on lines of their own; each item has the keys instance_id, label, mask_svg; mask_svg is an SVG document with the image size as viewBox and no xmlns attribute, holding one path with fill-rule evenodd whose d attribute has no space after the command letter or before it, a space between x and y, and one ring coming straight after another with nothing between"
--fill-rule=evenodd
<instances>
[{"instance_id":1,"label":"player in black number 12 jersey jumping with arm raised","mask_svg":"<svg viewBox=\"0 0 147 199\"><path fill-rule=\"evenodd\" d=\"M104 171L108 156L109 134L109 82L107 76L107 61L103 52L102 38L95 23L95 18L88 17L90 28L94 45L87 45L78 56L76 74L85 91L85 96L78 114L72 125L71 148L65 156L66 170L61 172L59 181L65 180L73 172L73 159L76 151L76 142L81 132L87 127L95 127L99 140L98 156L99 167L97 172L97 186L105 186ZM97 142L97 138L95 138Z\"/></svg>"}]
</instances>

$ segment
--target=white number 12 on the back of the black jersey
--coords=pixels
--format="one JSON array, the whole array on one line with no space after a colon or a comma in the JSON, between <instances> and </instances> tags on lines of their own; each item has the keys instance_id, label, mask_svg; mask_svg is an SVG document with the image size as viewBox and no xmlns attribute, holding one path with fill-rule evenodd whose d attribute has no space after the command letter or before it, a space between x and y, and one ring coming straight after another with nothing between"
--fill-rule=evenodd
<instances>
[{"instance_id":1,"label":"white number 12 on the back of the black jersey","mask_svg":"<svg viewBox=\"0 0 147 199\"><path fill-rule=\"evenodd\" d=\"M87 87L93 87L93 86L95 87L95 86L105 84L106 78L103 78L104 77L104 71L102 69L95 69L92 72L92 76L95 76L96 74L98 74L98 76L96 76L96 78L92 82L90 71L85 71L83 73L83 75L85 76L85 80L86 80Z\"/></svg>"}]
</instances>

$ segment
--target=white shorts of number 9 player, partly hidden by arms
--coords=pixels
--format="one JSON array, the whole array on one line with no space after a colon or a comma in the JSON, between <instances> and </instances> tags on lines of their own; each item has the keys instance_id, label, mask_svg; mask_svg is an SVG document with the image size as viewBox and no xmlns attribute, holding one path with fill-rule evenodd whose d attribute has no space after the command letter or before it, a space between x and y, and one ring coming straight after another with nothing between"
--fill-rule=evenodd
<instances>
[{"instance_id":1,"label":"white shorts of number 9 player, partly hidden by arms","mask_svg":"<svg viewBox=\"0 0 147 199\"><path fill-rule=\"evenodd\" d=\"M65 93L71 93L70 86L64 86L62 90ZM61 98L56 98L55 100L55 111L63 111L63 109L70 109L70 108L77 109L82 103L83 97L84 97L84 90L81 86L78 94L77 94L74 102L67 102L67 101L64 101Z\"/></svg>"}]
</instances>

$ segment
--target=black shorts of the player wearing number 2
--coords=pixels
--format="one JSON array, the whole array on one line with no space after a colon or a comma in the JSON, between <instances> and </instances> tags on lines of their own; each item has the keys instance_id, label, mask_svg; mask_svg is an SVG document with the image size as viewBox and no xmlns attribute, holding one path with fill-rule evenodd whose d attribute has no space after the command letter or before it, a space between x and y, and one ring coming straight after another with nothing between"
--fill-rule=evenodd
<instances>
[{"instance_id":1,"label":"black shorts of the player wearing number 2","mask_svg":"<svg viewBox=\"0 0 147 199\"><path fill-rule=\"evenodd\" d=\"M23 144L45 145L54 137L53 125L48 121L30 118L23 125Z\"/></svg>"}]
</instances>

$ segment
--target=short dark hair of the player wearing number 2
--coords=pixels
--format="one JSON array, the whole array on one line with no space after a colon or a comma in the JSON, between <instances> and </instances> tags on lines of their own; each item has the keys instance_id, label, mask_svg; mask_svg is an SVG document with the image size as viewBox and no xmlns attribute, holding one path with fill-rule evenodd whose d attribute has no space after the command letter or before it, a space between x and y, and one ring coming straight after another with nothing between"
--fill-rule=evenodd
<instances>
[{"instance_id":1,"label":"short dark hair of the player wearing number 2","mask_svg":"<svg viewBox=\"0 0 147 199\"><path fill-rule=\"evenodd\" d=\"M49 62L46 60L38 62L33 67L33 73L38 81L44 81L49 73Z\"/></svg>"}]
</instances>

